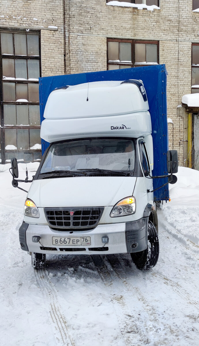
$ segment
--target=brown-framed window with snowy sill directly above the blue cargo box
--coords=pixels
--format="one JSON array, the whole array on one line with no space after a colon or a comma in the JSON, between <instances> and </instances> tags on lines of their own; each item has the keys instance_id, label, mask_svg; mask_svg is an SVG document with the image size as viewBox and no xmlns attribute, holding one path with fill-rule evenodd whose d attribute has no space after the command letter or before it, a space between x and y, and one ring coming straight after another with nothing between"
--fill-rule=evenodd
<instances>
[{"instance_id":1,"label":"brown-framed window with snowy sill directly above the blue cargo box","mask_svg":"<svg viewBox=\"0 0 199 346\"><path fill-rule=\"evenodd\" d=\"M107 69L159 64L157 41L107 39Z\"/></svg>"}]
</instances>

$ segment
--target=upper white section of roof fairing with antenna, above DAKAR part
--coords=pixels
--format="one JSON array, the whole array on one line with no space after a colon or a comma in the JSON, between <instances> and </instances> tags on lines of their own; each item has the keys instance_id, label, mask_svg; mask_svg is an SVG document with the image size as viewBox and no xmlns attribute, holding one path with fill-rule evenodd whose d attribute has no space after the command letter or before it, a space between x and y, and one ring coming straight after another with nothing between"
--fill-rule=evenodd
<instances>
[{"instance_id":1,"label":"upper white section of roof fairing with antenna, above DAKAR part","mask_svg":"<svg viewBox=\"0 0 199 346\"><path fill-rule=\"evenodd\" d=\"M44 118L102 117L148 110L141 81L102 81L63 88L50 93Z\"/></svg>"}]
</instances>

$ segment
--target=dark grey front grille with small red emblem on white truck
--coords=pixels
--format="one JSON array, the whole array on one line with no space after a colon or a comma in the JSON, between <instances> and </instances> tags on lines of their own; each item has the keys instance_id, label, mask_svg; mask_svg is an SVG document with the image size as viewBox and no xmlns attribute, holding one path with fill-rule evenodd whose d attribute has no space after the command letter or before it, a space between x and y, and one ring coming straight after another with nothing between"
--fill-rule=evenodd
<instances>
[{"instance_id":1,"label":"dark grey front grille with small red emblem on white truck","mask_svg":"<svg viewBox=\"0 0 199 346\"><path fill-rule=\"evenodd\" d=\"M79 230L97 226L104 208L44 208L46 220L52 227ZM73 215L71 215L73 213Z\"/></svg>"}]
</instances>

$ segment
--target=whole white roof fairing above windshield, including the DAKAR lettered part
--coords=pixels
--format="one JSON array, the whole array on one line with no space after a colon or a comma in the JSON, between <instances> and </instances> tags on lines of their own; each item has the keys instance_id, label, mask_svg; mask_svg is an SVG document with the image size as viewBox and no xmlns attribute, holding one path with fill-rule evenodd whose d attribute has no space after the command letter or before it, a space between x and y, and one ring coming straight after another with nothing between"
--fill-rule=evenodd
<instances>
[{"instance_id":1,"label":"whole white roof fairing above windshield, including the DAKAR lettered part","mask_svg":"<svg viewBox=\"0 0 199 346\"><path fill-rule=\"evenodd\" d=\"M48 97L40 136L49 143L72 138L151 134L142 81L103 81L65 86Z\"/></svg>"}]
</instances>

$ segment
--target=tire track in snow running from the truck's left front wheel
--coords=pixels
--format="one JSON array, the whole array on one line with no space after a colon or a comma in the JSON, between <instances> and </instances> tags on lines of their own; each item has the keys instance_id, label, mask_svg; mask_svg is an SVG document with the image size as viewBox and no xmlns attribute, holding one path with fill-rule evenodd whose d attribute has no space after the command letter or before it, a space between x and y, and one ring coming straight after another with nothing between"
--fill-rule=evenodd
<instances>
[{"instance_id":1,"label":"tire track in snow running from the truck's left front wheel","mask_svg":"<svg viewBox=\"0 0 199 346\"><path fill-rule=\"evenodd\" d=\"M63 345L75 346L73 340L71 339L66 325L65 317L60 311L60 305L57 300L57 292L54 289L51 281L48 278L48 274L45 269L34 270L37 283L44 295L50 308L50 315L52 321L55 325L55 329L61 336Z\"/></svg>"}]
</instances>

